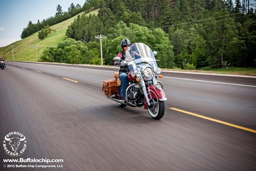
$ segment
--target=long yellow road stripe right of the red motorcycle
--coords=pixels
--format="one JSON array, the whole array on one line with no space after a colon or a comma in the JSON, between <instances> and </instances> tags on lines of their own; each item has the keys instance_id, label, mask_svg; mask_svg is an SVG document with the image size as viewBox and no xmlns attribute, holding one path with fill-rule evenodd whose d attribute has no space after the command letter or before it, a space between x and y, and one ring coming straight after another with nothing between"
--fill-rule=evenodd
<instances>
[{"instance_id":1,"label":"long yellow road stripe right of the red motorcycle","mask_svg":"<svg viewBox=\"0 0 256 171\"><path fill-rule=\"evenodd\" d=\"M250 128L241 127L239 125L230 124L228 122L220 121L218 119L212 119L212 118L209 118L207 116L198 115L196 113L191 113L191 112L188 112L188 111L185 111L185 110L180 110L180 109L173 108L173 107L169 107L169 109L176 110L176 111L179 111L179 112L182 112L182 113L186 113L186 114L189 114L189 115L192 115L192 116L197 116L199 118L207 119L207 120L210 120L210 121L213 121L213 122L218 122L218 123L221 123L221 124L224 124L224 125L228 125L230 127L235 127L235 128L239 128L241 130L246 130L246 131L249 131L249 132L252 132L252 133L256 133L256 130L253 130L253 129L250 129Z\"/></svg>"}]
</instances>

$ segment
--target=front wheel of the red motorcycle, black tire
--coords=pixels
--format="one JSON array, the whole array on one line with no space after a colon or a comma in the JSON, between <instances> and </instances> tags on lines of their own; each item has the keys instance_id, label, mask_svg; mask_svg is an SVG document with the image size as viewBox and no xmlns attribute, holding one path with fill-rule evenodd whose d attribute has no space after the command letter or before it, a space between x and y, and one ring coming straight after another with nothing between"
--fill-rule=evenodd
<instances>
[{"instance_id":1,"label":"front wheel of the red motorcycle, black tire","mask_svg":"<svg viewBox=\"0 0 256 171\"><path fill-rule=\"evenodd\" d=\"M148 113L153 119L161 119L165 112L165 101L151 99L150 102L151 105L148 106Z\"/></svg>"}]
</instances>

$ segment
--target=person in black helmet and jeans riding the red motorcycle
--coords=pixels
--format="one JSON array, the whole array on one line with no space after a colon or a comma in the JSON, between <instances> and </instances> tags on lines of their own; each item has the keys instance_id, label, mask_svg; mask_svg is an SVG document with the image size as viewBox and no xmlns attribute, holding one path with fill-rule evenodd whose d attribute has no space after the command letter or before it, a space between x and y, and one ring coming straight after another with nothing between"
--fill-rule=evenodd
<instances>
[{"instance_id":1,"label":"person in black helmet and jeans riding the red motorcycle","mask_svg":"<svg viewBox=\"0 0 256 171\"><path fill-rule=\"evenodd\" d=\"M120 57L122 60L125 59L125 52L126 50L130 50L130 46L131 46L131 42L129 41L129 39L123 39L121 41L121 47L122 47L122 52L119 52L117 54L118 57ZM115 61L114 65L120 65L119 61ZM122 99L125 99L125 91L128 87L128 73L129 73L129 68L127 65L125 66L121 66L120 70L119 70L119 79L121 81L121 97Z\"/></svg>"}]
</instances>

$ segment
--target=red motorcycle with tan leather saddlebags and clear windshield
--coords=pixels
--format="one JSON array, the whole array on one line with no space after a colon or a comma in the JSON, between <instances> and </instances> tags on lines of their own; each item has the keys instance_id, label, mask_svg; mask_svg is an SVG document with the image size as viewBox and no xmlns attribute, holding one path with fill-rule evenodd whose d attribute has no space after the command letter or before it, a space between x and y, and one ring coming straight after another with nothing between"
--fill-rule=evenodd
<instances>
[{"instance_id":1,"label":"red motorcycle with tan leather saddlebags and clear windshield","mask_svg":"<svg viewBox=\"0 0 256 171\"><path fill-rule=\"evenodd\" d=\"M156 78L162 78L161 69L157 67L155 56L157 52L144 43L131 44L125 53L125 60L117 56L114 61L121 62L118 66L128 65L128 87L125 92L125 99L120 96L119 73L114 74L115 79L103 81L103 88L106 97L116 101L120 107L142 107L148 110L153 119L161 119L165 113L166 94L163 91L163 84Z\"/></svg>"}]
</instances>

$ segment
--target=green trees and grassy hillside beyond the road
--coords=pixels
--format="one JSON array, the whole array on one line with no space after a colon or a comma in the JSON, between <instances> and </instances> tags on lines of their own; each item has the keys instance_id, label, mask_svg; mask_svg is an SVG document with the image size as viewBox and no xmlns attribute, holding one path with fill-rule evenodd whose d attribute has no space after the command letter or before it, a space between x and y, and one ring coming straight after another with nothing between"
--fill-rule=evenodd
<instances>
[{"instance_id":1,"label":"green trees and grassy hillside beyond the road","mask_svg":"<svg viewBox=\"0 0 256 171\"><path fill-rule=\"evenodd\" d=\"M47 20L61 22L29 23L22 34L28 36L11 44L14 60L35 61L38 46L39 61L99 65L95 37L105 35L104 65L113 65L121 40L128 38L156 50L159 67L168 70L256 76L255 10L242 8L239 0L117 1L72 3L68 12L58 5L55 17ZM40 31L29 35L35 26ZM12 60L12 47L0 48L0 54Z\"/></svg>"}]
</instances>

